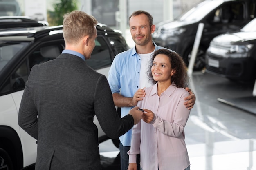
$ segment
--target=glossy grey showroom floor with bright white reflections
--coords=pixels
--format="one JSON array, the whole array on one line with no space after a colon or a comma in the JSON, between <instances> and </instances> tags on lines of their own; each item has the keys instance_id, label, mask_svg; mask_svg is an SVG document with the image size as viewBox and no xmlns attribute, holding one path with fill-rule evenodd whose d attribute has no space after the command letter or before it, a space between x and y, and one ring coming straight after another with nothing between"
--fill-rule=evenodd
<instances>
[{"instance_id":1,"label":"glossy grey showroom floor with bright white reflections","mask_svg":"<svg viewBox=\"0 0 256 170\"><path fill-rule=\"evenodd\" d=\"M189 87L197 100L185 127L191 170L256 170L256 114L217 100L252 96L253 86L193 73ZM105 159L118 154L110 144L100 150Z\"/></svg>"}]
</instances>

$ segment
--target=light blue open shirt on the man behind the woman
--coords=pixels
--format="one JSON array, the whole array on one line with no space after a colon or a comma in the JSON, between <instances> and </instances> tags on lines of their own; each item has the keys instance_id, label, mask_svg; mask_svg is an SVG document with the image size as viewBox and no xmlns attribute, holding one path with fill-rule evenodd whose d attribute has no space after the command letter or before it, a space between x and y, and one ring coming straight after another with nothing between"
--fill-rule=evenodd
<instances>
[{"instance_id":1,"label":"light blue open shirt on the man behind the woman","mask_svg":"<svg viewBox=\"0 0 256 170\"><path fill-rule=\"evenodd\" d=\"M163 47L157 46L155 50ZM135 46L127 51L119 53L113 60L108 72L108 83L113 93L120 93L124 97L133 97L139 89L139 72L141 66L141 57L137 54ZM146 70L147 71L147 70ZM121 117L128 114L133 107L122 107ZM123 146L131 146L132 129L119 137Z\"/></svg>"}]
</instances>

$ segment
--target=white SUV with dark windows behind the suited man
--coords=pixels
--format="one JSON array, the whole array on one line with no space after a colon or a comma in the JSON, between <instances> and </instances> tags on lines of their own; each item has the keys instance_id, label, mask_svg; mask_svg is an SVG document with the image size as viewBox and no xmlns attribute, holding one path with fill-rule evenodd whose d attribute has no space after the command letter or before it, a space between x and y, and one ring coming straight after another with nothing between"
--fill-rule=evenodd
<instances>
[{"instance_id":1,"label":"white SUV with dark windows behind the suited man","mask_svg":"<svg viewBox=\"0 0 256 170\"><path fill-rule=\"evenodd\" d=\"M108 76L118 53L128 49L121 33L97 25L97 40L91 58L93 69ZM35 139L18 126L18 110L30 70L35 64L52 60L65 49L62 26L0 31L0 169L21 169L36 161ZM109 139L97 118L99 142ZM112 139L119 146L119 139Z\"/></svg>"}]
</instances>

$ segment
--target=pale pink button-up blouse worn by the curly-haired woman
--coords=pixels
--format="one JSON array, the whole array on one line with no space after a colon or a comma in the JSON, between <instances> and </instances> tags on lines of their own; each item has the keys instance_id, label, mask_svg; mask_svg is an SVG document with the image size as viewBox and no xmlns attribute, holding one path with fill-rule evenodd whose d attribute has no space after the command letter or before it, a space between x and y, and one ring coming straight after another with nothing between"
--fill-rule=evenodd
<instances>
[{"instance_id":1,"label":"pale pink button-up blouse worn by the curly-haired woman","mask_svg":"<svg viewBox=\"0 0 256 170\"><path fill-rule=\"evenodd\" d=\"M184 97L189 93L184 88L171 85L160 97L157 83L146 88L146 96L138 102L139 108L155 113L154 120L147 124L142 119L132 130L129 163L136 163L140 154L143 170L184 170L189 163L185 144L184 128L190 110L184 106Z\"/></svg>"}]
</instances>

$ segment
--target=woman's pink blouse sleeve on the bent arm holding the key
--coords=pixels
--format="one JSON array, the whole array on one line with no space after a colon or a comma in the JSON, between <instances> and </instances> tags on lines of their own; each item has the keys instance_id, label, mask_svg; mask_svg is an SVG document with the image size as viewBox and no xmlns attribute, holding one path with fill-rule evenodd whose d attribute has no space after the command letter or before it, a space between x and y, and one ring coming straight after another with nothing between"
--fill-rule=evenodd
<instances>
[{"instance_id":1,"label":"woman's pink blouse sleeve on the bent arm holding the key","mask_svg":"<svg viewBox=\"0 0 256 170\"><path fill-rule=\"evenodd\" d=\"M151 124L159 131L165 135L171 137L179 137L184 132L184 127L189 118L190 110L184 106L184 97L188 96L189 93L182 93L177 107L174 109L173 121L166 121L162 117L156 116Z\"/></svg>"}]
</instances>

